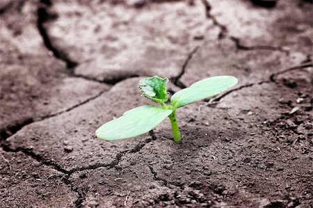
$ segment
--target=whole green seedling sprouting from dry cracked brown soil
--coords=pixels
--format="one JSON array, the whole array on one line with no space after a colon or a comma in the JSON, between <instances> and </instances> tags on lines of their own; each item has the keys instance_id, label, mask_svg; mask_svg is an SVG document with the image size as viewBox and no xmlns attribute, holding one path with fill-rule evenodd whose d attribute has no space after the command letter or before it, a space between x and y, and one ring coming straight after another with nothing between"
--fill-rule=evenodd
<instances>
[{"instance_id":1,"label":"whole green seedling sprouting from dry cracked brown soil","mask_svg":"<svg viewBox=\"0 0 313 208\"><path fill-rule=\"evenodd\" d=\"M202 79L190 87L179 90L168 101L166 83L168 78L157 76L139 81L142 96L161 106L139 106L125 112L120 118L105 123L96 131L98 138L117 141L145 134L157 127L166 117L172 125L172 136L176 143L181 141L176 120L176 110L201 99L218 95L234 86L238 80L231 76L218 76Z\"/></svg>"}]
</instances>

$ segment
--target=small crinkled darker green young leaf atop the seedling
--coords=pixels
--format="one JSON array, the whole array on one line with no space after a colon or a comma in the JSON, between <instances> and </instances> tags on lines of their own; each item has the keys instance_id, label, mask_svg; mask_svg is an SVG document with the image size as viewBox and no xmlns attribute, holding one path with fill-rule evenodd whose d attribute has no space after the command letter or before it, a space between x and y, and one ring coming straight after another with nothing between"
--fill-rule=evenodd
<instances>
[{"instance_id":1,"label":"small crinkled darker green young leaf atop the seedling","mask_svg":"<svg viewBox=\"0 0 313 208\"><path fill-rule=\"evenodd\" d=\"M168 100L168 92L166 90L167 78L160 78L157 76L149 77L139 81L139 88L144 97L151 99L154 102L161 103Z\"/></svg>"}]
</instances>

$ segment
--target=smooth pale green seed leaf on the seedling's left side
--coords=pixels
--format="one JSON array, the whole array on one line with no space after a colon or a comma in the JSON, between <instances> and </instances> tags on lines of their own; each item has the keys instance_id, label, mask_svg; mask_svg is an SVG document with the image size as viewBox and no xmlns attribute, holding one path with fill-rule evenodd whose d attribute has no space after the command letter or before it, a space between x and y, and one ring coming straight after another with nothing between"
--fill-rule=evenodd
<instances>
[{"instance_id":1,"label":"smooth pale green seed leaf on the seedling's left side","mask_svg":"<svg viewBox=\"0 0 313 208\"><path fill-rule=\"evenodd\" d=\"M139 106L105 123L95 133L98 138L107 141L132 138L157 127L170 113L172 110L157 106Z\"/></svg>"}]
</instances>

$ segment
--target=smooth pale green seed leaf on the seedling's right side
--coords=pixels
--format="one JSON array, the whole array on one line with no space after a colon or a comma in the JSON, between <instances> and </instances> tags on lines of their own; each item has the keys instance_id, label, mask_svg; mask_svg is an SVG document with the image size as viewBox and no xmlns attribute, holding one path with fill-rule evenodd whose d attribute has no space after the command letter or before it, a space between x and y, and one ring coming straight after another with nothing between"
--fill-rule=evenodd
<instances>
[{"instance_id":1,"label":"smooth pale green seed leaf on the seedling's right side","mask_svg":"<svg viewBox=\"0 0 313 208\"><path fill-rule=\"evenodd\" d=\"M218 95L236 83L238 83L238 80L232 76L217 76L202 79L172 95L170 102L175 108L186 106L201 99Z\"/></svg>"}]
</instances>

